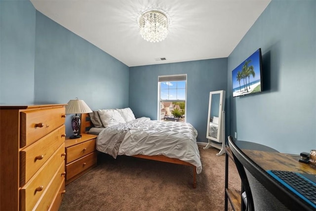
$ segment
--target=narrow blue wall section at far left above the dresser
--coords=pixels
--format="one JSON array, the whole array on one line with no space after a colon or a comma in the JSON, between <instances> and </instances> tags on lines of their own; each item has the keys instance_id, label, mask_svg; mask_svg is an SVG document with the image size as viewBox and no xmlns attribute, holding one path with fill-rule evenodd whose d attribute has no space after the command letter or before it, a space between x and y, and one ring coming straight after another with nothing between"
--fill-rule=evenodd
<instances>
[{"instance_id":1,"label":"narrow blue wall section at far left above the dresser","mask_svg":"<svg viewBox=\"0 0 316 211\"><path fill-rule=\"evenodd\" d=\"M29 0L0 0L0 104L34 101L35 14Z\"/></svg>"}]
</instances>

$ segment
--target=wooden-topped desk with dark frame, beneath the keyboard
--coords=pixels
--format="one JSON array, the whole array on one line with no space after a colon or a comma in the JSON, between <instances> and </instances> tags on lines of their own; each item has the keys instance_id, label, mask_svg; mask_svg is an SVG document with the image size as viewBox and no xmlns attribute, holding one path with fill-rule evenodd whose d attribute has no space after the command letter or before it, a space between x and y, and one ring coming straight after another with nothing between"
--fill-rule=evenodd
<instances>
[{"instance_id":1,"label":"wooden-topped desk with dark frame, beneath the keyboard","mask_svg":"<svg viewBox=\"0 0 316 211\"><path fill-rule=\"evenodd\" d=\"M291 156L288 154L279 153L276 150L261 144L258 145L252 142L248 143L250 144L247 144L245 141L239 141L239 143L236 141L236 144L242 150L242 152L264 170L287 170L300 173L316 174L315 166L298 161L300 156ZM234 211L244 210L241 200L241 193L243 192L242 187L240 190L234 190L228 187L228 160L232 159L234 162L234 158L228 146L226 146L225 150L225 211L228 210L228 200L230 201Z\"/></svg>"}]
</instances>

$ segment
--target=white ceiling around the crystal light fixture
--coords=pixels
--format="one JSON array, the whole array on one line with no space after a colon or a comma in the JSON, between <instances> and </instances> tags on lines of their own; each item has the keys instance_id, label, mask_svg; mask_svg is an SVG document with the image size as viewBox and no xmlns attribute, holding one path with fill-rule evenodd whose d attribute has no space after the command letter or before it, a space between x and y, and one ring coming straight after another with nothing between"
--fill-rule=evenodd
<instances>
[{"instance_id":1,"label":"white ceiling around the crystal light fixture","mask_svg":"<svg viewBox=\"0 0 316 211\"><path fill-rule=\"evenodd\" d=\"M228 57L271 0L31 0L35 8L129 67ZM138 18L169 18L162 42L139 35ZM165 57L165 61L156 61Z\"/></svg>"}]
</instances>

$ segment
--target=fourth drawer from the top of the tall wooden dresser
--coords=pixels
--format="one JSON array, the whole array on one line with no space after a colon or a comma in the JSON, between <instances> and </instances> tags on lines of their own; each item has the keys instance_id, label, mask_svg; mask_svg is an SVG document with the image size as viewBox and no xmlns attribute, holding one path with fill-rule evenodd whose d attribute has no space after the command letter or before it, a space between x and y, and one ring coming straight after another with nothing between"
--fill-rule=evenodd
<instances>
[{"instance_id":1,"label":"fourth drawer from the top of the tall wooden dresser","mask_svg":"<svg viewBox=\"0 0 316 211\"><path fill-rule=\"evenodd\" d=\"M49 208L54 204L54 201L56 200L59 192L65 190L65 174L65 163L63 162L33 210L49 210Z\"/></svg>"}]
</instances>

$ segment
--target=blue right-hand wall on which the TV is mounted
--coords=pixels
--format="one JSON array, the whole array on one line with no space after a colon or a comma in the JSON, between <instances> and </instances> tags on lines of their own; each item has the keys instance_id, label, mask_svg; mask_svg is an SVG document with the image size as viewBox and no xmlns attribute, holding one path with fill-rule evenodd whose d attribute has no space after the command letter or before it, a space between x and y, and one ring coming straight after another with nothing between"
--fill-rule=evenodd
<instances>
[{"instance_id":1,"label":"blue right-hand wall on which the TV is mounted","mask_svg":"<svg viewBox=\"0 0 316 211\"><path fill-rule=\"evenodd\" d=\"M263 54L264 92L232 97L231 71ZM230 133L284 153L316 148L316 1L273 0L228 57Z\"/></svg>"}]
</instances>

